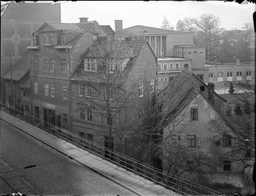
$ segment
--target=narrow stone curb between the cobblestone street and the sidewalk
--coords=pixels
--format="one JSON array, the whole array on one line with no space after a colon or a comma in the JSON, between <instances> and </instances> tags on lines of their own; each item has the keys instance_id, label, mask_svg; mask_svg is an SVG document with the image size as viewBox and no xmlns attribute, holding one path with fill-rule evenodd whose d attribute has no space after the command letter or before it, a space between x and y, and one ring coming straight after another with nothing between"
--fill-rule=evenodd
<instances>
[{"instance_id":1,"label":"narrow stone curb between the cobblestone street and the sidewalk","mask_svg":"<svg viewBox=\"0 0 256 196\"><path fill-rule=\"evenodd\" d=\"M13 118L13 116L12 116L12 118ZM0 119L2 119L1 116L0 116ZM2 119L2 121L4 121L5 123L8 123L8 124L11 125L11 126L14 126L15 128L21 130L22 132L25 132L23 129L19 128L18 126L13 125L12 123L9 123L9 122L6 121L5 119ZM18 121L21 121L21 120L18 119ZM25 122L22 121L22 123L25 123ZM26 124L27 124L28 126L32 126L32 125L30 125L30 124L28 124L28 123L26 123ZM35 129L38 129L38 127L34 127L34 126L32 126L32 127L35 128ZM42 130L42 129L40 129L40 130ZM54 149L55 151L60 152L62 155L68 156L68 158L70 158L71 160L73 160L73 161L75 161L75 162L78 162L78 163L79 163L80 165L82 165L83 167L90 168L93 172L96 172L98 175L101 175L101 176L104 177L104 178L108 178L108 180L115 182L116 184L120 185L120 186L123 187L123 188L128 189L129 191L135 193L136 195L141 195L141 194L138 194L138 193L136 193L135 191L131 190L130 188L125 187L125 185L121 185L120 182L115 181L115 180L113 180L112 178L109 178L108 176L101 174L100 172L96 171L94 168L91 168L91 167L89 167L88 165L85 165L84 163L79 162L78 160L72 158L70 155L67 155L67 154L65 154L64 152L62 152L62 151L60 151L60 150L58 150L58 149L55 149L54 147L52 147L52 145L49 145L49 144L43 142L41 139L38 139L38 138L36 138L35 136L32 136L32 135L29 134L28 132L25 132L25 134L27 134L28 136L31 136L32 138L38 140L39 142L42 142L43 144L47 145L48 147ZM52 135L51 135L51 136L52 136Z\"/></svg>"}]
</instances>

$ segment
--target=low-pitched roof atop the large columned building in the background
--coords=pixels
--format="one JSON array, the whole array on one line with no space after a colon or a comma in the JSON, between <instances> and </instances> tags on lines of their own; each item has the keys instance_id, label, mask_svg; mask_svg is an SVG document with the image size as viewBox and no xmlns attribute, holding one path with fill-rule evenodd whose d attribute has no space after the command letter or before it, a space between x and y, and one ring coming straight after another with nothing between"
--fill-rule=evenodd
<instances>
[{"instance_id":1,"label":"low-pitched roof atop the large columned building in the background","mask_svg":"<svg viewBox=\"0 0 256 196\"><path fill-rule=\"evenodd\" d=\"M136 25L130 28L124 28L122 33L126 34L166 34L166 33L172 33L175 31L168 30L168 29L162 29L162 28L151 28L147 26L142 26L142 25Z\"/></svg>"}]
</instances>

